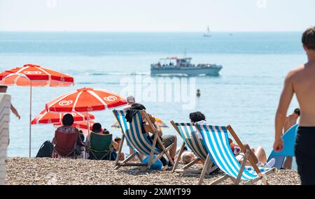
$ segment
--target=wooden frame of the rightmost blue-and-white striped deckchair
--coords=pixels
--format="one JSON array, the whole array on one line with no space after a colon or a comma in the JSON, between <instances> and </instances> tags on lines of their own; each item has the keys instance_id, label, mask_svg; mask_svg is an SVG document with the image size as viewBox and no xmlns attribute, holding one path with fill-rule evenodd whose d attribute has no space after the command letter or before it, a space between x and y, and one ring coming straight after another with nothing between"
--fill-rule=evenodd
<instances>
[{"instance_id":1,"label":"wooden frame of the rightmost blue-and-white striped deckchair","mask_svg":"<svg viewBox=\"0 0 315 199\"><path fill-rule=\"evenodd\" d=\"M198 131L200 131L200 128L198 128L197 125L195 125L195 127L198 129ZM218 184L220 182L223 182L225 179L232 179L233 184L238 185L239 182L241 182L241 175L244 172L245 169L245 165L246 165L246 161L248 160L249 163L251 163L251 165L253 166L255 172L257 172L258 177L255 177L254 179L248 180L248 182L246 184L253 184L254 182L258 182L258 180L262 180L262 184L268 185L267 182L267 175L269 175L270 173L274 172L276 169L272 168L271 170L265 172L262 174L262 172L260 172L258 166L255 164L255 161L253 160L253 157L251 156L251 154L249 153L248 149L246 149L243 145L243 143L241 142L241 140L239 140L239 137L237 136L237 134L235 133L235 131L233 130L232 126L228 125L225 126L225 128L228 129L228 131L230 132L230 134L232 135L232 137L234 138L235 142L237 142L237 145L239 145L239 147L241 147L241 152L244 152L245 156L244 156L244 160L243 163L241 164L241 169L239 170L239 174L237 175L237 178L231 177L230 175L225 174L223 177L220 177L219 179L216 179L215 181L211 182L211 185L214 184ZM208 154L207 159L209 157L210 154ZM209 163L210 161L206 160L206 163ZM205 168L205 167L204 167ZM202 175L200 176L199 182L198 184L201 185L204 179L204 171L202 171Z\"/></svg>"}]
</instances>

